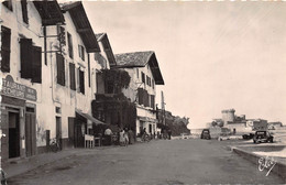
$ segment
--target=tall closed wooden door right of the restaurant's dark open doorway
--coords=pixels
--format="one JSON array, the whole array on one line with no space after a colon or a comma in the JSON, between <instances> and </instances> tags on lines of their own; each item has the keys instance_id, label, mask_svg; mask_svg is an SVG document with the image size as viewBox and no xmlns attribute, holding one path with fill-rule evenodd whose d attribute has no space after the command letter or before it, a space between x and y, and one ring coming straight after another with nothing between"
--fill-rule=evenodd
<instances>
[{"instance_id":1,"label":"tall closed wooden door right of the restaurant's dark open doorway","mask_svg":"<svg viewBox=\"0 0 286 185\"><path fill-rule=\"evenodd\" d=\"M26 156L36 154L35 115L25 113L25 152Z\"/></svg>"}]
</instances>

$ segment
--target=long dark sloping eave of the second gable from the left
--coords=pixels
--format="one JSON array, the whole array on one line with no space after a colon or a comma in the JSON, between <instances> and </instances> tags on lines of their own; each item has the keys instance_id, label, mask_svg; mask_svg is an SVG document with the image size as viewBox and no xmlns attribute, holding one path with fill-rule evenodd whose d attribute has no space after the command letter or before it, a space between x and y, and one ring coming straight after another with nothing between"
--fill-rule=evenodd
<instances>
[{"instance_id":1,"label":"long dark sloping eave of the second gable from the left","mask_svg":"<svg viewBox=\"0 0 286 185\"><path fill-rule=\"evenodd\" d=\"M80 1L65 3L62 6L63 11L68 11L72 20L80 35L88 53L100 52L96 34L89 23L85 8Z\"/></svg>"}]
</instances>

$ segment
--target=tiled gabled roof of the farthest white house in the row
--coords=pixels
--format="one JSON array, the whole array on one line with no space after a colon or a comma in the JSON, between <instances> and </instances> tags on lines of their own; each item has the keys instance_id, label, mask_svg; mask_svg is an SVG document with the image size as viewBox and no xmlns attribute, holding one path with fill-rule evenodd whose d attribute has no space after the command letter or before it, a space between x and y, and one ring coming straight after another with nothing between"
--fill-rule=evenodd
<instances>
[{"instance_id":1,"label":"tiled gabled roof of the farthest white house in the row","mask_svg":"<svg viewBox=\"0 0 286 185\"><path fill-rule=\"evenodd\" d=\"M146 64L150 65L151 72L153 74L156 85L164 85L164 79L162 77L157 58L155 52L134 52L134 53L123 53L116 54L116 61L118 68L133 68L133 67L145 67Z\"/></svg>"}]
</instances>

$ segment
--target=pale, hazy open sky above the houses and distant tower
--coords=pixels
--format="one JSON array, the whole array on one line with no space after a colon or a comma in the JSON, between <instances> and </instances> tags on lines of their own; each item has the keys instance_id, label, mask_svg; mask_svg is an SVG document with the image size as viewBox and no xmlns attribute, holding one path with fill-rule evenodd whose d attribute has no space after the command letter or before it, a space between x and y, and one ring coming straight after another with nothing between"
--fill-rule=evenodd
<instances>
[{"instance_id":1,"label":"pale, hazy open sky above the houses and distant tower","mask_svg":"<svg viewBox=\"0 0 286 185\"><path fill-rule=\"evenodd\" d=\"M154 51L166 110L204 128L221 110L286 124L286 3L84 1L114 54Z\"/></svg>"}]
</instances>

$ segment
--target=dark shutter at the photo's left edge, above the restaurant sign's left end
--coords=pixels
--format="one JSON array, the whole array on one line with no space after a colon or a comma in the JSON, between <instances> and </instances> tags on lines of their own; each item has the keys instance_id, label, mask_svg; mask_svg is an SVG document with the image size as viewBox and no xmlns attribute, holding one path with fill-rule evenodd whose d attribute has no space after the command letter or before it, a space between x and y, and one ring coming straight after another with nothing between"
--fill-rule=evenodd
<instances>
[{"instance_id":1,"label":"dark shutter at the photo's left edge, above the restaurant sign's left end","mask_svg":"<svg viewBox=\"0 0 286 185\"><path fill-rule=\"evenodd\" d=\"M9 73L10 72L10 52L11 52L11 30L6 26L1 26L1 32L2 32L1 33L1 41L2 41L1 70Z\"/></svg>"}]
</instances>

